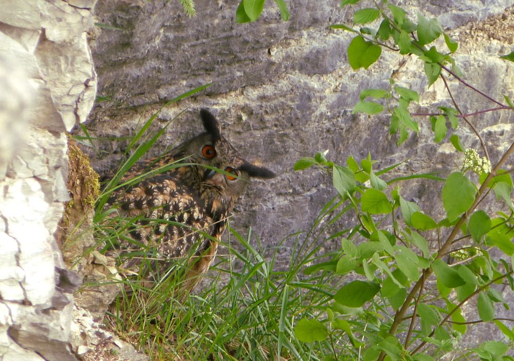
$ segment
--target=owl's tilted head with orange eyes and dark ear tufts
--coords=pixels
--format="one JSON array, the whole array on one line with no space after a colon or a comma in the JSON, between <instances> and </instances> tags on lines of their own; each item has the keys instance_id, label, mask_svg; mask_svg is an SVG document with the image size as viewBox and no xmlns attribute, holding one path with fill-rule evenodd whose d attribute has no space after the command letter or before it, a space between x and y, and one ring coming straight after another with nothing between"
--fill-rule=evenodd
<instances>
[{"instance_id":1,"label":"owl's tilted head with orange eyes and dark ear tufts","mask_svg":"<svg viewBox=\"0 0 514 361\"><path fill-rule=\"evenodd\" d=\"M205 132L177 147L177 156L188 157L196 163L197 179L203 191L216 197L226 197L229 203L243 193L250 178L273 178L271 170L247 162L221 135L216 118L200 110Z\"/></svg>"}]
</instances>

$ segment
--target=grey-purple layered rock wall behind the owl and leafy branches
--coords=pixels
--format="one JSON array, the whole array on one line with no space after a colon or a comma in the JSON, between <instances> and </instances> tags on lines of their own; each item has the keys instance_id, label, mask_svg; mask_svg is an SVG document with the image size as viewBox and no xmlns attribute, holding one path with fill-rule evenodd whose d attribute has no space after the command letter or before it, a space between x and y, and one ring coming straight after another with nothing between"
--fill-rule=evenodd
<instances>
[{"instance_id":1,"label":"grey-purple layered rock wall behind the owl and leafy branches","mask_svg":"<svg viewBox=\"0 0 514 361\"><path fill-rule=\"evenodd\" d=\"M196 133L199 108L212 109L225 136L243 156L259 158L279 173L271 182L252 183L231 221L241 232L252 226L268 248L289 234L308 230L322 205L335 195L325 175L292 171L301 157L328 149L327 157L343 164L350 155L360 160L370 151L379 160L377 168L409 159L396 169L397 175L434 171L447 175L456 168L462 160L453 155L448 139L441 146L433 143L427 118L418 119L419 136L412 135L397 147L396 138L389 136L387 117L352 115L361 89L387 88L390 78L420 93L421 101L412 111L450 106L442 83L428 88L424 74L419 74L423 66L414 57L390 52L383 52L367 71L353 71L346 59L353 34L328 28L351 23L350 7L341 9L327 0L287 3L288 22L268 1L258 22L244 25L235 23L237 2L227 0L196 0L195 18L187 17L177 1L99 3L98 21L110 28L98 29L90 43L104 101L95 105L87 126L91 134L106 138L97 142L105 152L94 157L94 166L100 172L115 168L128 142L121 137L130 136L138 122L149 119L164 101L212 83L199 95L161 111L161 125L178 118L151 155ZM497 99L514 83L512 63L498 57L511 51L513 4L512 0L401 2L411 18L421 11L439 19L460 43L456 60L464 79ZM463 111L494 106L449 79ZM512 140L509 117L507 112L493 112L471 118L487 139L493 163ZM460 126L457 134L466 147L479 148L468 127ZM510 167L512 160L506 165ZM433 184L401 185L405 198L421 200L426 213L442 218L440 201L430 193ZM281 246L283 264L289 262L293 240ZM338 246L337 240L333 242L326 247Z\"/></svg>"}]
</instances>

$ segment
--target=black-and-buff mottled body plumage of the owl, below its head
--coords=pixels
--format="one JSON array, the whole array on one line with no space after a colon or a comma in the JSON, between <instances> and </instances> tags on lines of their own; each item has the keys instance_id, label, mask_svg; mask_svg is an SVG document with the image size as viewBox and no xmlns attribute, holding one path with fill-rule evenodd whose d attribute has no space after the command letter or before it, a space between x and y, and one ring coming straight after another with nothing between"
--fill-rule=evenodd
<instances>
[{"instance_id":1,"label":"black-and-buff mottled body plumage of the owl, below its head","mask_svg":"<svg viewBox=\"0 0 514 361\"><path fill-rule=\"evenodd\" d=\"M149 163L138 163L123 180L144 173ZM152 167L156 166L159 165L154 162ZM223 204L211 192L201 192L195 168L194 165L180 166L113 193L107 203L118 206L120 215L135 219L130 231L135 242L125 242L123 248L134 249L143 244L148 251L157 252L153 257L167 262L202 256L208 259L197 261L201 268L198 271L208 269L233 205ZM211 251L207 253L213 253L212 257L203 255L209 247Z\"/></svg>"}]
</instances>

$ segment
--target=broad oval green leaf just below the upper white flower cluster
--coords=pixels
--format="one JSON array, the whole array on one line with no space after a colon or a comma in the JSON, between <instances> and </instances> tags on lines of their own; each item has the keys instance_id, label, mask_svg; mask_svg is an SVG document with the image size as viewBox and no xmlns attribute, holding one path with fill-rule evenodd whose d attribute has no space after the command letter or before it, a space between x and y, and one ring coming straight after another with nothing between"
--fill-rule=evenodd
<instances>
[{"instance_id":1,"label":"broad oval green leaf just below the upper white flower cluster","mask_svg":"<svg viewBox=\"0 0 514 361\"><path fill-rule=\"evenodd\" d=\"M474 184L461 172L450 174L443 187L443 205L450 222L469 210L475 193Z\"/></svg>"}]
</instances>

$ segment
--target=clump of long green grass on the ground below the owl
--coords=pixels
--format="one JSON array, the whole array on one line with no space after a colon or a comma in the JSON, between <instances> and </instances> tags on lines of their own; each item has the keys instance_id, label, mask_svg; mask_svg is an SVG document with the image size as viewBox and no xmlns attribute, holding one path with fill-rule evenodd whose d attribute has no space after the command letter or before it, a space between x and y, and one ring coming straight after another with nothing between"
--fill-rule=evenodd
<instances>
[{"instance_id":1,"label":"clump of long green grass on the ground below the owl","mask_svg":"<svg viewBox=\"0 0 514 361\"><path fill-rule=\"evenodd\" d=\"M231 246L234 241L243 245L242 252ZM295 237L293 248L302 246ZM183 303L174 297L177 278L150 288L142 287L141 279L127 283L130 291L117 298L109 314L112 325L156 360L318 359L311 346L296 340L293 325L323 312L317 305L330 297L326 274L305 278L299 273L319 246L292 255L282 271L275 269L279 249L264 259L265 249L251 230L243 237L230 229L225 247L228 252L210 272L210 287ZM331 345L325 347L331 354Z\"/></svg>"}]
</instances>

